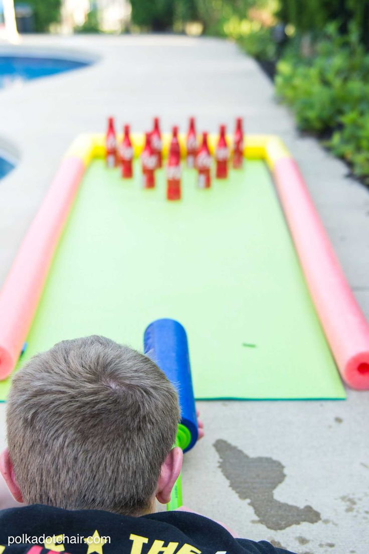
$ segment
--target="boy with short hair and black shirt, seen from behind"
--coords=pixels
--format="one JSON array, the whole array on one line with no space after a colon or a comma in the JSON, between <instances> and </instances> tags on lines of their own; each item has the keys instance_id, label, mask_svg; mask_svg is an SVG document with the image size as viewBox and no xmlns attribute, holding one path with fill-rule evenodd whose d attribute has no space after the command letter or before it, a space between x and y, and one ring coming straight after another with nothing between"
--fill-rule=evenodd
<instances>
[{"instance_id":1,"label":"boy with short hair and black shirt, seen from behind","mask_svg":"<svg viewBox=\"0 0 369 554\"><path fill-rule=\"evenodd\" d=\"M0 511L0 553L282 554L166 504L180 473L175 389L101 336L56 344L15 376L1 472L26 505ZM38 545L38 546L37 546Z\"/></svg>"}]
</instances>

